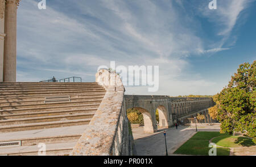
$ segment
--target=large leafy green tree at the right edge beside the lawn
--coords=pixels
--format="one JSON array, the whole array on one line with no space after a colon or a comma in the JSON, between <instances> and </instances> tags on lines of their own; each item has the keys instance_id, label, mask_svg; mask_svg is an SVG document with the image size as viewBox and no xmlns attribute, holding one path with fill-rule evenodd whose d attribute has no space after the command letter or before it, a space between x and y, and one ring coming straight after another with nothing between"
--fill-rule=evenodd
<instances>
[{"instance_id":1,"label":"large leafy green tree at the right edge beside the lawn","mask_svg":"<svg viewBox=\"0 0 256 167\"><path fill-rule=\"evenodd\" d=\"M221 132L245 132L256 143L256 61L244 63L232 76L228 87L218 94L217 119Z\"/></svg>"}]
</instances>

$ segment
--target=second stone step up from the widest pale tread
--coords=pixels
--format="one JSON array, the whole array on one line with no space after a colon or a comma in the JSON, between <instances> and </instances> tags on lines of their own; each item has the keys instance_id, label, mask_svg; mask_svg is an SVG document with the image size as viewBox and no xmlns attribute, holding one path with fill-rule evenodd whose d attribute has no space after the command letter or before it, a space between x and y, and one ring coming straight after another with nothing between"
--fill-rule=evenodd
<instances>
[{"instance_id":1,"label":"second stone step up from the widest pale tread","mask_svg":"<svg viewBox=\"0 0 256 167\"><path fill-rule=\"evenodd\" d=\"M45 117L6 119L6 120L0 120L0 127L10 126L10 125L23 125L28 123L86 119L86 118L92 118L94 114L95 113L80 113L80 114L52 115L52 116L45 116Z\"/></svg>"}]
</instances>

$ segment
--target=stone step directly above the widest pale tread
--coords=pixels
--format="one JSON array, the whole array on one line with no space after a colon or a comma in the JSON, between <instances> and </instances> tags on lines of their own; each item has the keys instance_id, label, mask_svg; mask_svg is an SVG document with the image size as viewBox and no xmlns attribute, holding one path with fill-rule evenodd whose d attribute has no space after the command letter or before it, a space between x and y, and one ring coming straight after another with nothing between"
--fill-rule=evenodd
<instances>
[{"instance_id":1,"label":"stone step directly above the widest pale tread","mask_svg":"<svg viewBox=\"0 0 256 167\"><path fill-rule=\"evenodd\" d=\"M35 129L48 129L48 128L54 128L54 127L88 125L89 122L90 122L90 118L86 118L86 119L73 119L68 121L40 122L40 123L28 123L23 125L1 126L0 133L24 131L24 130L35 130Z\"/></svg>"}]
</instances>

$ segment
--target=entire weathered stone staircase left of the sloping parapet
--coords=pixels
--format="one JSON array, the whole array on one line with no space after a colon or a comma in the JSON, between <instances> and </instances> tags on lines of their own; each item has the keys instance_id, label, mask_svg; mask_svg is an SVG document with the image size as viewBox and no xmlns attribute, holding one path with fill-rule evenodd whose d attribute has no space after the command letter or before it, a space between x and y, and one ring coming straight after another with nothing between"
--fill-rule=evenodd
<instances>
[{"instance_id":1,"label":"entire weathered stone staircase left of the sloping parapet","mask_svg":"<svg viewBox=\"0 0 256 167\"><path fill-rule=\"evenodd\" d=\"M97 83L0 83L0 155L69 155L100 106Z\"/></svg>"}]
</instances>

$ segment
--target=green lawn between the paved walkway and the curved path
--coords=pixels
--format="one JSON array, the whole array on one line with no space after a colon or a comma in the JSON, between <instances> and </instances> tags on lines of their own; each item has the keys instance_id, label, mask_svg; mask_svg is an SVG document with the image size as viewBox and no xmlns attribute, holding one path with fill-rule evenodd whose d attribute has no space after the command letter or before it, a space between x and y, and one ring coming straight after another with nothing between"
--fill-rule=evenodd
<instances>
[{"instance_id":1,"label":"green lawn between the paved walkway and the curved path","mask_svg":"<svg viewBox=\"0 0 256 167\"><path fill-rule=\"evenodd\" d=\"M220 132L197 132L187 142L181 145L174 153L183 155L205 155L208 156L209 140L216 136L230 136L227 134L220 134ZM228 156L228 148L217 148L218 156Z\"/></svg>"}]
</instances>

